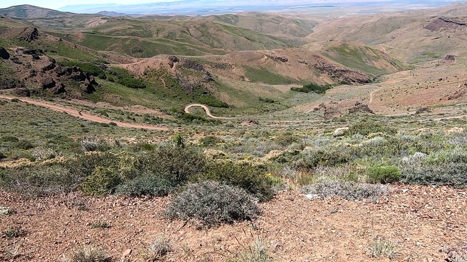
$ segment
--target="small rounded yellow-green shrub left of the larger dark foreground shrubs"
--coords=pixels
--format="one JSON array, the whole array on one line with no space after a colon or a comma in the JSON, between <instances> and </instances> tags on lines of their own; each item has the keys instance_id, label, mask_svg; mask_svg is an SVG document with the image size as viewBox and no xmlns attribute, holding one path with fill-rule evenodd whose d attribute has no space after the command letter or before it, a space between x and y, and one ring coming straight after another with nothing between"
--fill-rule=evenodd
<instances>
[{"instance_id":1,"label":"small rounded yellow-green shrub left of the larger dark foreground shrubs","mask_svg":"<svg viewBox=\"0 0 467 262\"><path fill-rule=\"evenodd\" d=\"M85 178L81 190L90 196L105 196L113 193L121 181L119 172L115 168L98 166Z\"/></svg>"}]
</instances>

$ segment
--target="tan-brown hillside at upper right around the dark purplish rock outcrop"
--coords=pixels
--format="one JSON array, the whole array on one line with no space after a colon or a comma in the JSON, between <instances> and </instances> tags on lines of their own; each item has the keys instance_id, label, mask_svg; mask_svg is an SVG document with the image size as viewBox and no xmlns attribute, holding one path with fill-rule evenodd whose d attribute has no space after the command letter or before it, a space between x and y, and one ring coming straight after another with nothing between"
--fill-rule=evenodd
<instances>
[{"instance_id":1,"label":"tan-brown hillside at upper right around the dark purplish rock outcrop","mask_svg":"<svg viewBox=\"0 0 467 262\"><path fill-rule=\"evenodd\" d=\"M437 30L425 29L440 17L465 21L467 4L394 14L346 17L323 22L307 37L352 40L384 50L406 62L435 60L447 53L467 49L467 26L445 22ZM463 14L466 14L464 12Z\"/></svg>"}]
</instances>

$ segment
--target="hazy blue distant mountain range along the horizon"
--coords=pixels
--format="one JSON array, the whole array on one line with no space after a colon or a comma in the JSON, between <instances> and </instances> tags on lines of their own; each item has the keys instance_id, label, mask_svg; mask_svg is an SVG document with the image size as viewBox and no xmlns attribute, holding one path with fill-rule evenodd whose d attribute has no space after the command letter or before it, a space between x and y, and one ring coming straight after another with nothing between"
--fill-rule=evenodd
<instances>
[{"instance_id":1,"label":"hazy blue distant mountain range along the horizon","mask_svg":"<svg viewBox=\"0 0 467 262\"><path fill-rule=\"evenodd\" d=\"M121 14L144 15L212 15L238 12L265 12L265 11L312 11L317 7L362 6L369 5L378 10L377 6L392 6L397 10L411 8L436 7L450 2L465 0L179 0L147 4L118 5L68 5L60 11L96 14L102 11ZM394 10L392 10L394 11Z\"/></svg>"}]
</instances>

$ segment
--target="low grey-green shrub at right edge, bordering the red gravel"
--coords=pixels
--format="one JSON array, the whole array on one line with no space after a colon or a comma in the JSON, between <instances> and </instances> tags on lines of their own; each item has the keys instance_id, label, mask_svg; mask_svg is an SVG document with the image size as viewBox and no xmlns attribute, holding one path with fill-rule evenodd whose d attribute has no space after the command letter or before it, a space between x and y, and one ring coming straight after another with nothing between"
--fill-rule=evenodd
<instances>
[{"instance_id":1,"label":"low grey-green shrub at right edge, bordering the red gravel","mask_svg":"<svg viewBox=\"0 0 467 262\"><path fill-rule=\"evenodd\" d=\"M467 163L427 164L406 166L402 170L402 182L419 185L448 185L467 187Z\"/></svg>"}]
</instances>

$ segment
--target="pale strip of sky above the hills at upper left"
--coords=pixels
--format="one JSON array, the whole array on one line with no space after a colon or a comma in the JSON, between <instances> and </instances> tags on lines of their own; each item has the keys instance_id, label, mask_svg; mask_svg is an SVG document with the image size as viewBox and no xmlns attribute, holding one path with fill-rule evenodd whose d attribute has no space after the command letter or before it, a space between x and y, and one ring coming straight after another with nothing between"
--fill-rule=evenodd
<instances>
[{"instance_id":1,"label":"pale strip of sky above the hills at upper left","mask_svg":"<svg viewBox=\"0 0 467 262\"><path fill-rule=\"evenodd\" d=\"M141 4L141 3L156 3L156 2L173 2L176 0L79 0L79 1L64 1L64 0L0 0L0 8L10 7L12 5L30 4L45 8L58 9L71 4Z\"/></svg>"}]
</instances>

